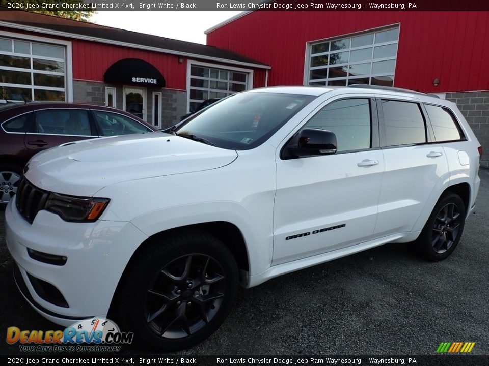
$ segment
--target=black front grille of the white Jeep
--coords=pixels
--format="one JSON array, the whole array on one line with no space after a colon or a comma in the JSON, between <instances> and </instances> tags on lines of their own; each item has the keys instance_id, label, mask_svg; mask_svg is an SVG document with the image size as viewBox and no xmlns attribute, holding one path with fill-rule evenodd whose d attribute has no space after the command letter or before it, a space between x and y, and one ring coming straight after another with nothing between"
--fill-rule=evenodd
<instances>
[{"instance_id":1,"label":"black front grille of the white Jeep","mask_svg":"<svg viewBox=\"0 0 489 366\"><path fill-rule=\"evenodd\" d=\"M15 205L20 215L32 224L37 213L44 208L48 196L48 191L37 188L22 176L15 195Z\"/></svg>"}]
</instances>

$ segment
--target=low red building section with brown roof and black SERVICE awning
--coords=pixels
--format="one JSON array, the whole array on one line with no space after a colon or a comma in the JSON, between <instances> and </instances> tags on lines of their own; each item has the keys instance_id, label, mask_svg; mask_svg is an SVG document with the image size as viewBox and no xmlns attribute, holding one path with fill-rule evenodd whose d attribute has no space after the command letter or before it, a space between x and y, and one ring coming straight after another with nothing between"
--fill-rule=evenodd
<instances>
[{"instance_id":1,"label":"low red building section with brown roof and black SERVICE awning","mask_svg":"<svg viewBox=\"0 0 489 366\"><path fill-rule=\"evenodd\" d=\"M2 99L108 105L162 128L262 86L270 69L224 48L0 9Z\"/></svg>"}]
</instances>

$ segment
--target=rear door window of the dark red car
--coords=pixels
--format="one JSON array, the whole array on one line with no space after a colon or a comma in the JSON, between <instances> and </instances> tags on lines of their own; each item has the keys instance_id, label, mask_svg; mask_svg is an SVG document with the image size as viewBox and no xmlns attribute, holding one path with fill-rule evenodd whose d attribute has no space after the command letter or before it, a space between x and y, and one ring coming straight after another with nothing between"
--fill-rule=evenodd
<instances>
[{"instance_id":1,"label":"rear door window of the dark red car","mask_svg":"<svg viewBox=\"0 0 489 366\"><path fill-rule=\"evenodd\" d=\"M49 135L93 136L88 112L82 109L46 109L36 112L30 132Z\"/></svg>"}]
</instances>

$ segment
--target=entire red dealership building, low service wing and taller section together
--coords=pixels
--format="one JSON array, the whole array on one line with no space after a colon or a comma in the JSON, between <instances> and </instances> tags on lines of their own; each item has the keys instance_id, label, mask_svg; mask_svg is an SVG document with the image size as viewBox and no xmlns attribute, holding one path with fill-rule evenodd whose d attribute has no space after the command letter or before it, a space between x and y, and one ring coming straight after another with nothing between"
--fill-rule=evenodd
<instances>
[{"instance_id":1,"label":"entire red dealership building, low service wing and taller section together","mask_svg":"<svg viewBox=\"0 0 489 366\"><path fill-rule=\"evenodd\" d=\"M206 34L200 45L0 11L0 90L110 105L161 128L256 87L395 86L457 103L488 160L489 12L254 11Z\"/></svg>"}]
</instances>

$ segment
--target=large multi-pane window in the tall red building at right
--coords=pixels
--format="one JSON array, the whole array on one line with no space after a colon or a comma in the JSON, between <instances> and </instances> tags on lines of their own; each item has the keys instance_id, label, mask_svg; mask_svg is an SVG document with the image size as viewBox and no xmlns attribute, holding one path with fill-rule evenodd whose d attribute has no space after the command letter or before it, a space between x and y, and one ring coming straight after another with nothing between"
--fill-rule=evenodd
<instances>
[{"instance_id":1,"label":"large multi-pane window in the tall red building at right","mask_svg":"<svg viewBox=\"0 0 489 366\"><path fill-rule=\"evenodd\" d=\"M306 84L393 86L399 27L308 44Z\"/></svg>"}]
</instances>

